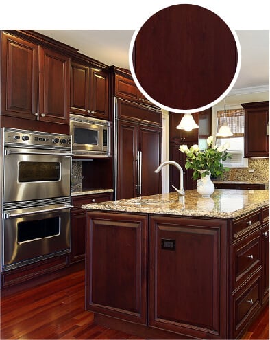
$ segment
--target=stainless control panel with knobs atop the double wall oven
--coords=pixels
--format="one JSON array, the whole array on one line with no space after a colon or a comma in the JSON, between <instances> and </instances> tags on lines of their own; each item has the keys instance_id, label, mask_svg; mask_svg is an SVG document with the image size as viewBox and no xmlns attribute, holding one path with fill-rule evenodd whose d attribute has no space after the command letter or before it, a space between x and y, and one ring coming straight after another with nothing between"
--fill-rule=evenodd
<instances>
[{"instance_id":1,"label":"stainless control panel with knobs atop the double wall oven","mask_svg":"<svg viewBox=\"0 0 270 340\"><path fill-rule=\"evenodd\" d=\"M61 146L62 148L71 148L71 135L5 128L4 143L5 145L23 144L25 146Z\"/></svg>"}]
</instances>

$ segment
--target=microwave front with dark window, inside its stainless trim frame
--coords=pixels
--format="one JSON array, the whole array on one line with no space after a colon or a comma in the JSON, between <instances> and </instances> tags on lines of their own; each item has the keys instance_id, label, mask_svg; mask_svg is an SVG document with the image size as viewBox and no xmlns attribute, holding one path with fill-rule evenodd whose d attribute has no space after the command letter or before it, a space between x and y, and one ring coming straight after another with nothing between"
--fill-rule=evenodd
<instances>
[{"instance_id":1,"label":"microwave front with dark window, inside its stainless trim frame","mask_svg":"<svg viewBox=\"0 0 270 340\"><path fill-rule=\"evenodd\" d=\"M71 121L71 135L73 136L73 150L106 151L103 146L106 126Z\"/></svg>"}]
</instances>

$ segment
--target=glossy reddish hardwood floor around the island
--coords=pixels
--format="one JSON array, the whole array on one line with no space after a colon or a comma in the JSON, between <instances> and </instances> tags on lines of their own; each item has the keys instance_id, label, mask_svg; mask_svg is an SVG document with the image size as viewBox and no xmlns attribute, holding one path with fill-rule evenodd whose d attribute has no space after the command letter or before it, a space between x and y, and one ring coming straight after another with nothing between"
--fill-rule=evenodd
<instances>
[{"instance_id":1,"label":"glossy reddish hardwood floor around the island","mask_svg":"<svg viewBox=\"0 0 270 340\"><path fill-rule=\"evenodd\" d=\"M1 297L0 326L0 339L141 339L94 324L84 271ZM241 339L269 339L269 306Z\"/></svg>"}]
</instances>

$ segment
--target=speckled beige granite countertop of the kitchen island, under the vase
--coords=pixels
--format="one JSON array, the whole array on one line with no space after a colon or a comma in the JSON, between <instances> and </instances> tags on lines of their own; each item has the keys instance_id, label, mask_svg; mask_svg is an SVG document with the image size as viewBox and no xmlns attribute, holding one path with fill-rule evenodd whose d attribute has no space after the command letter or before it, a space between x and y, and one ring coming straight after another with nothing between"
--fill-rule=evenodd
<instances>
[{"instance_id":1,"label":"speckled beige granite countertop of the kitchen island, under the vase","mask_svg":"<svg viewBox=\"0 0 270 340\"><path fill-rule=\"evenodd\" d=\"M214 194L208 198L200 196L197 190L187 190L182 202L179 202L177 194L172 192L86 204L82 208L107 212L235 218L268 204L268 190L216 189Z\"/></svg>"}]
</instances>

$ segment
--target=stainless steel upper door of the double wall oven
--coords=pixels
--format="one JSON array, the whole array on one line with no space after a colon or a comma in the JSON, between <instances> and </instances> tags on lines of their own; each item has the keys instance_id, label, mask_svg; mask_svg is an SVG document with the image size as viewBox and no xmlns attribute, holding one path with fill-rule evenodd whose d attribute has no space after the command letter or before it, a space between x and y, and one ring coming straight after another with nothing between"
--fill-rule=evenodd
<instances>
[{"instance_id":1,"label":"stainless steel upper door of the double wall oven","mask_svg":"<svg viewBox=\"0 0 270 340\"><path fill-rule=\"evenodd\" d=\"M71 154L5 148L3 202L70 196Z\"/></svg>"}]
</instances>

